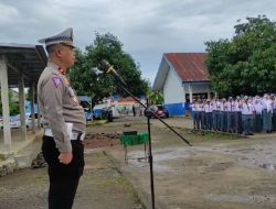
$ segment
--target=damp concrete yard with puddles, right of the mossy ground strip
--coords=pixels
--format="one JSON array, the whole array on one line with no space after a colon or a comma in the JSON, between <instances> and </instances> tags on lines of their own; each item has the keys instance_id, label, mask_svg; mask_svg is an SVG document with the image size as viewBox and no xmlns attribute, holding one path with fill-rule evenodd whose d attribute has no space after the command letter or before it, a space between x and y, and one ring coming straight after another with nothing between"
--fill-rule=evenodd
<instances>
[{"instance_id":1,"label":"damp concrete yard with puddles, right of the mossy ground strip","mask_svg":"<svg viewBox=\"0 0 276 209\"><path fill-rule=\"evenodd\" d=\"M156 208L275 208L276 134L240 138L187 130L191 128L187 119L166 122L193 146L187 146L162 123L151 120ZM108 125L115 129L115 124ZM145 125L129 122L128 128L117 124L117 129L144 131ZM100 128L97 131L103 132ZM107 153L151 208L149 164L137 160L144 148L130 146L129 151L132 160L128 164L124 162L124 150L109 148Z\"/></svg>"}]
</instances>

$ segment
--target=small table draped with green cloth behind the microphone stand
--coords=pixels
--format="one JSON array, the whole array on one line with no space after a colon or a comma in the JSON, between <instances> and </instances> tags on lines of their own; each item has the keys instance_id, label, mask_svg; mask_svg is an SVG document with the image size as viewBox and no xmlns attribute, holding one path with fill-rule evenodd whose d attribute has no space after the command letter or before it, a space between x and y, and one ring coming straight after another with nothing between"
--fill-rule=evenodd
<instances>
[{"instance_id":1,"label":"small table draped with green cloth behind the microphone stand","mask_svg":"<svg viewBox=\"0 0 276 209\"><path fill-rule=\"evenodd\" d=\"M121 144L124 145L125 148L125 162L128 163L129 157L127 156L127 146L134 146L134 145L141 145L144 144L144 151L145 151L145 157L139 157L139 158L145 158L147 161L148 158L148 142L149 142L149 134L146 132L140 132L140 133L124 133L119 138Z\"/></svg>"}]
</instances>

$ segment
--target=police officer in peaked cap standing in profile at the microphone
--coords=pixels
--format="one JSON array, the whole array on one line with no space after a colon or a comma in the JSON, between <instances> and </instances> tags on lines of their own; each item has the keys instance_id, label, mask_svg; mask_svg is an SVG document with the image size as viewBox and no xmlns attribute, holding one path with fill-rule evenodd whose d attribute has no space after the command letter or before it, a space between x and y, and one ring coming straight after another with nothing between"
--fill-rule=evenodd
<instances>
[{"instance_id":1,"label":"police officer in peaked cap standing in profile at the microphone","mask_svg":"<svg viewBox=\"0 0 276 209\"><path fill-rule=\"evenodd\" d=\"M75 63L73 30L40 40L49 53L38 84L45 128L42 152L49 164L49 209L71 209L84 168L84 110L66 78Z\"/></svg>"}]
</instances>

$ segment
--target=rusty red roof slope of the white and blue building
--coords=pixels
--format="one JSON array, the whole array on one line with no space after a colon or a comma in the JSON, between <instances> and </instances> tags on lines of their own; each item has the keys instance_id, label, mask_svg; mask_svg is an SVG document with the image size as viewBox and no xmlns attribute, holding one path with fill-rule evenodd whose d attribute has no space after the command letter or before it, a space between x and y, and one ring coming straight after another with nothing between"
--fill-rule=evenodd
<instances>
[{"instance_id":1,"label":"rusty red roof slope of the white and blue building","mask_svg":"<svg viewBox=\"0 0 276 209\"><path fill-rule=\"evenodd\" d=\"M182 81L209 81L206 53L166 53Z\"/></svg>"}]
</instances>

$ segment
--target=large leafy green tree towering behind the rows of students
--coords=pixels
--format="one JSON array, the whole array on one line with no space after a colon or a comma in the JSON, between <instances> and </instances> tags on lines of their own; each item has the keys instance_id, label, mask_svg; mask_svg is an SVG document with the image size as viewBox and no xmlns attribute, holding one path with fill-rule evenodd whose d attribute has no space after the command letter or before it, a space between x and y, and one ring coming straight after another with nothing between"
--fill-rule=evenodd
<instances>
[{"instance_id":1,"label":"large leafy green tree towering behind the rows of students","mask_svg":"<svg viewBox=\"0 0 276 209\"><path fill-rule=\"evenodd\" d=\"M276 23L265 15L234 26L232 40L206 42L206 67L220 96L276 92Z\"/></svg>"}]
</instances>

